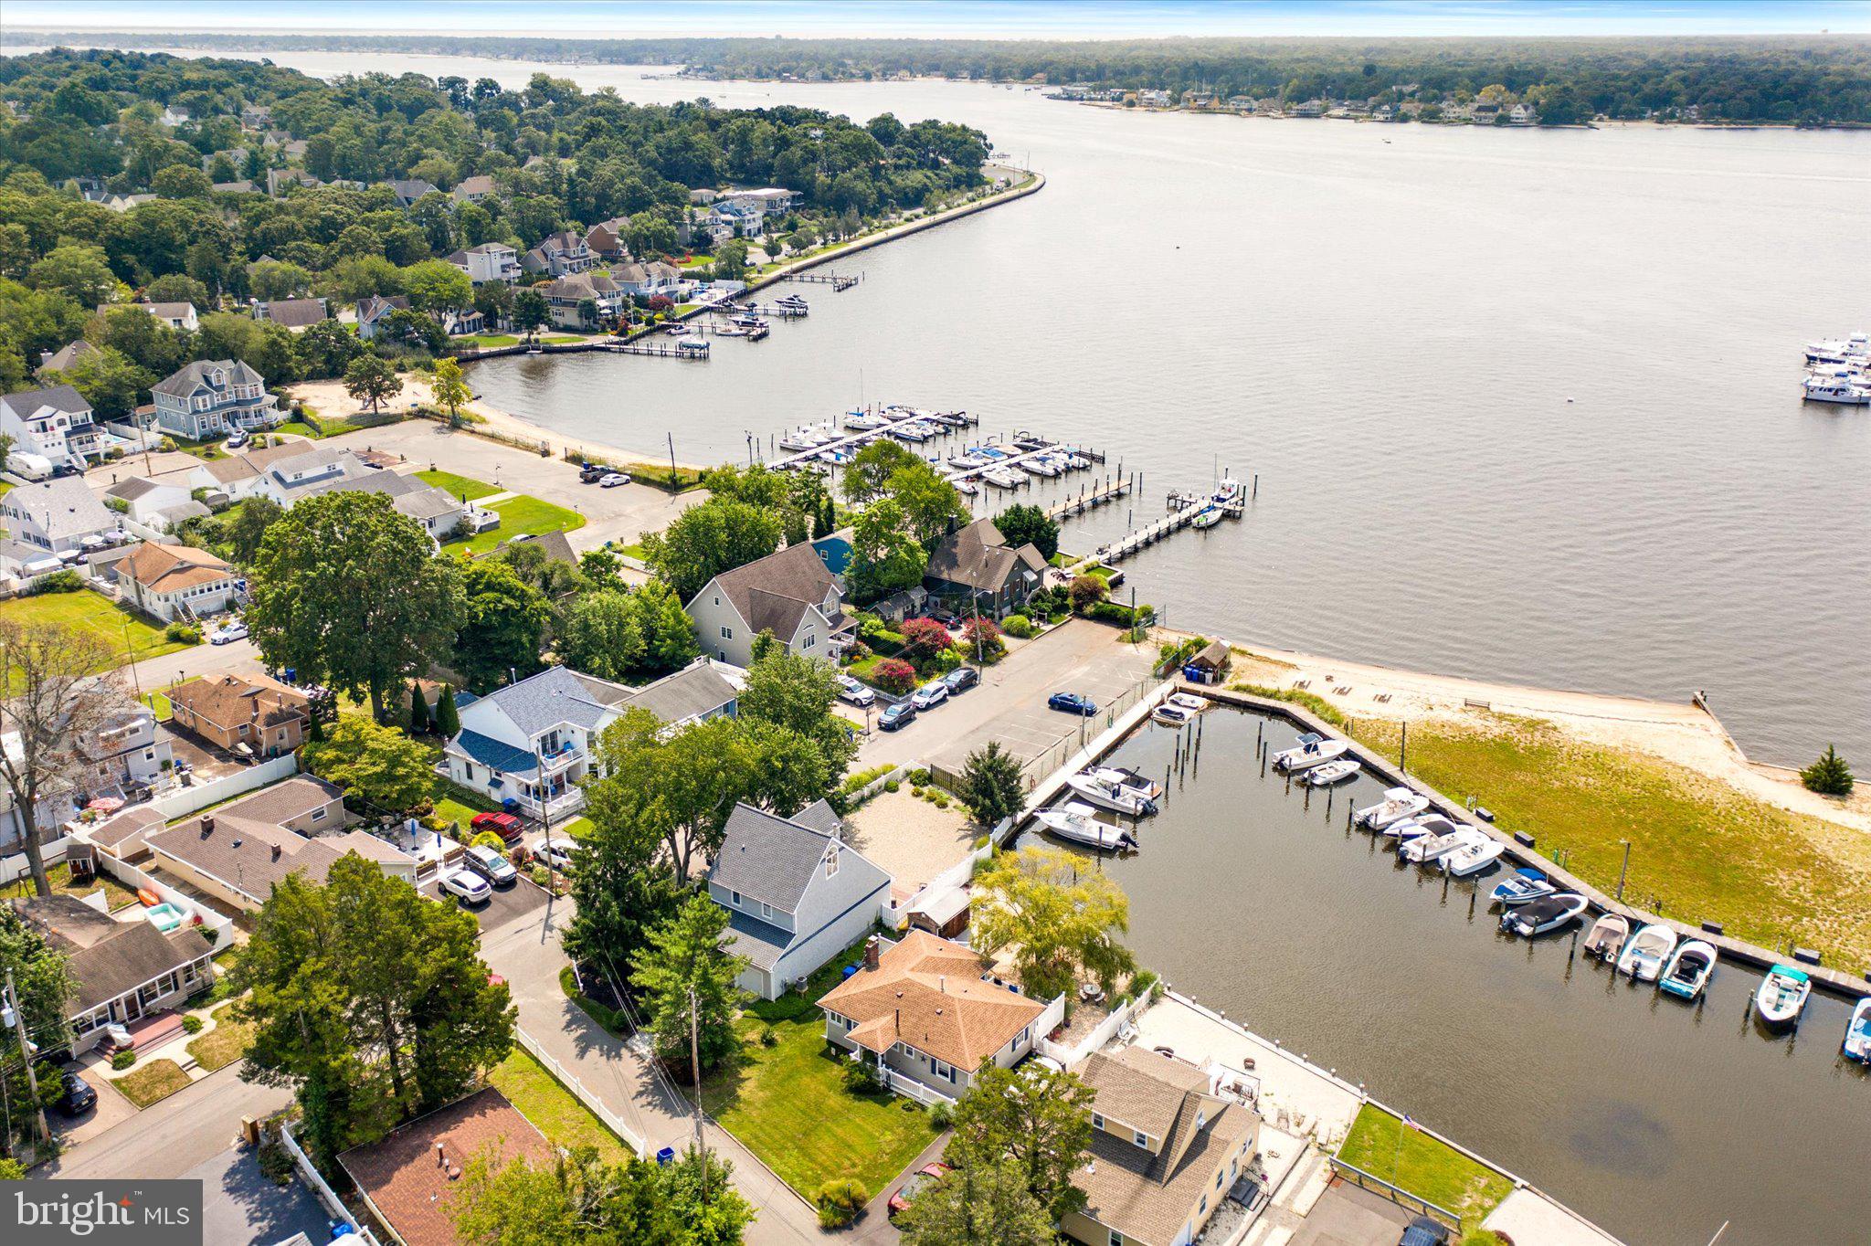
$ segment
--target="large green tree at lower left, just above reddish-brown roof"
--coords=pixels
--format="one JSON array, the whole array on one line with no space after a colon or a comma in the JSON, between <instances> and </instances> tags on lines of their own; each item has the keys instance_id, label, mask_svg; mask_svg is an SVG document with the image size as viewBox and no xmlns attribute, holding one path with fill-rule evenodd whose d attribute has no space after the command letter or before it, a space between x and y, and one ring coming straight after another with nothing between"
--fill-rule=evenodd
<instances>
[{"instance_id":1,"label":"large green tree at lower left, just above reddish-brown roof","mask_svg":"<svg viewBox=\"0 0 1871 1246\"><path fill-rule=\"evenodd\" d=\"M516 1010L477 947L470 913L355 853L324 885L288 876L232 971L254 1025L241 1078L290 1085L326 1160L458 1098L513 1048Z\"/></svg>"}]
</instances>

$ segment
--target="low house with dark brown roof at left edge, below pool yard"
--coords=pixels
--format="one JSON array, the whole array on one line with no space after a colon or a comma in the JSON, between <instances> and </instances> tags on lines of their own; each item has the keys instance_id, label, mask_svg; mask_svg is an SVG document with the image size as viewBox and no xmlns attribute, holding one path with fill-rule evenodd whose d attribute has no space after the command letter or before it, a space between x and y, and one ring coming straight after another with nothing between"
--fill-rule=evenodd
<instances>
[{"instance_id":1,"label":"low house with dark brown roof at left edge, below pool yard","mask_svg":"<svg viewBox=\"0 0 1871 1246\"><path fill-rule=\"evenodd\" d=\"M71 1053L90 1051L107 1025L129 1025L180 1007L215 980L213 945L193 926L163 934L146 920L114 920L77 896L11 900L13 911L65 958ZM51 1042L41 1042L52 1048Z\"/></svg>"}]
</instances>

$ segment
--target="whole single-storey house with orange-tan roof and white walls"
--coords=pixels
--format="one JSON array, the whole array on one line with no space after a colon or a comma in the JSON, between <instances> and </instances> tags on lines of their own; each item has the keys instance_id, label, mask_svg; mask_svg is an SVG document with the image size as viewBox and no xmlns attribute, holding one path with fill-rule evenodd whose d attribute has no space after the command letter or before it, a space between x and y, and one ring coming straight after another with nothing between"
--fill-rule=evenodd
<instances>
[{"instance_id":1,"label":"whole single-storey house with orange-tan roof and white walls","mask_svg":"<svg viewBox=\"0 0 1871 1246\"><path fill-rule=\"evenodd\" d=\"M1010 1068L1065 1020L1065 995L1042 1003L982 977L964 943L911 930L872 937L864 963L818 1001L825 1038L870 1059L892 1091L928 1102L967 1093L988 1061Z\"/></svg>"}]
</instances>

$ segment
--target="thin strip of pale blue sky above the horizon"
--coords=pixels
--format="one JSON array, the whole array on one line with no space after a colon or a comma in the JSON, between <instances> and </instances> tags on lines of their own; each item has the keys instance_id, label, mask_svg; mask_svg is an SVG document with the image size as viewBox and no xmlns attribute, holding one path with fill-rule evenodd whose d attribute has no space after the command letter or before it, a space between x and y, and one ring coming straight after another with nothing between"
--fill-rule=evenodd
<instances>
[{"instance_id":1,"label":"thin strip of pale blue sky above the horizon","mask_svg":"<svg viewBox=\"0 0 1871 1246\"><path fill-rule=\"evenodd\" d=\"M6 0L41 30L539 36L1646 36L1871 32L1871 0Z\"/></svg>"}]
</instances>

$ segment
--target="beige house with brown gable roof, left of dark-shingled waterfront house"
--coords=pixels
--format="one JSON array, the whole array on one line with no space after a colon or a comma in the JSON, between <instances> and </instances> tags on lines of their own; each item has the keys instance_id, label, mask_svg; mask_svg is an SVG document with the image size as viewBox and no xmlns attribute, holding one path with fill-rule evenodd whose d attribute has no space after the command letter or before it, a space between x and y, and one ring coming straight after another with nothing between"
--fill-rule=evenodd
<instances>
[{"instance_id":1,"label":"beige house with brown gable roof, left of dark-shingled waterfront house","mask_svg":"<svg viewBox=\"0 0 1871 1246\"><path fill-rule=\"evenodd\" d=\"M829 657L833 640L851 629L838 580L810 544L720 572L685 608L702 651L733 666L752 666L760 632L773 632L788 653Z\"/></svg>"}]
</instances>

